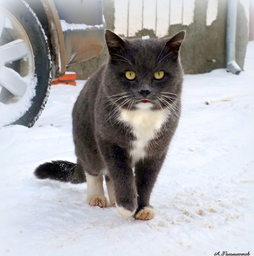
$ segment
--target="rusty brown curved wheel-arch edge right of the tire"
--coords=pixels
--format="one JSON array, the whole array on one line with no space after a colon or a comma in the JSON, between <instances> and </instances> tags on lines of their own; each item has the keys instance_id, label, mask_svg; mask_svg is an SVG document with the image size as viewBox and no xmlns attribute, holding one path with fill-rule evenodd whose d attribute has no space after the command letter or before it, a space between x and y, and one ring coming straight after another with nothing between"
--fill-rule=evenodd
<instances>
[{"instance_id":1,"label":"rusty brown curved wheel-arch edge right of the tire","mask_svg":"<svg viewBox=\"0 0 254 256\"><path fill-rule=\"evenodd\" d=\"M54 55L54 73L53 77L58 78L66 72L66 57L62 26L60 19L52 0L40 0L46 12L49 26L50 42Z\"/></svg>"}]
</instances>

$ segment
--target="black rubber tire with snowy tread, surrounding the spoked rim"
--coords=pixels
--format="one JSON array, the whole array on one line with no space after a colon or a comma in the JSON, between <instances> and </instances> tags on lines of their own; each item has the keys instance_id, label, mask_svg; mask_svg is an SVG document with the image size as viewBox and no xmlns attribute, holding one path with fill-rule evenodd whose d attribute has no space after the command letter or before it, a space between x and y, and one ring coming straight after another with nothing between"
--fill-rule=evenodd
<instances>
[{"instance_id":1,"label":"black rubber tire with snowy tread, surrounding the spoked rim","mask_svg":"<svg viewBox=\"0 0 254 256\"><path fill-rule=\"evenodd\" d=\"M25 1L12 0L4 2L5 3L2 3L0 1L1 6L18 19L29 37L34 55L34 73L36 74L38 81L35 87L35 96L32 99L32 105L22 117L11 124L32 127L44 109L49 95L52 80L52 64L49 44L39 19L37 19L36 14Z\"/></svg>"}]
</instances>

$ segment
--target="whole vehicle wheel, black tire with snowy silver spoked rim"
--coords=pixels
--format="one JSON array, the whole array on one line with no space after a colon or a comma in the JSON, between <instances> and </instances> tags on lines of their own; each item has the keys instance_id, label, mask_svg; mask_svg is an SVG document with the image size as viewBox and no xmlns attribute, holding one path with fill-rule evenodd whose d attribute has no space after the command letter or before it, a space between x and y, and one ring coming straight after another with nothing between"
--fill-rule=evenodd
<instances>
[{"instance_id":1,"label":"whole vehicle wheel, black tire with snowy silver spoked rim","mask_svg":"<svg viewBox=\"0 0 254 256\"><path fill-rule=\"evenodd\" d=\"M51 84L47 36L23 0L0 0L0 127L33 126Z\"/></svg>"}]
</instances>

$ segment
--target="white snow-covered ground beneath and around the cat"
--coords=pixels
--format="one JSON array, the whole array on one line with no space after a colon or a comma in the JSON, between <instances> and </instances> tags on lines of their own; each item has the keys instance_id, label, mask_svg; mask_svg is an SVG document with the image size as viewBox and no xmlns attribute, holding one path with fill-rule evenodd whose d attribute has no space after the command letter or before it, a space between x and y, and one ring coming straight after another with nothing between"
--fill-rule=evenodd
<instances>
[{"instance_id":1,"label":"white snow-covered ground beneath and around the cat","mask_svg":"<svg viewBox=\"0 0 254 256\"><path fill-rule=\"evenodd\" d=\"M86 203L86 184L39 181L75 161L71 109L83 86L52 86L33 128L0 129L0 255L254 254L254 42L245 71L186 75L183 113L151 197L150 221ZM208 102L208 105L205 104Z\"/></svg>"}]
</instances>

